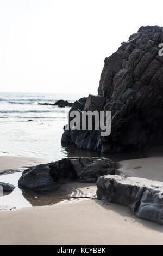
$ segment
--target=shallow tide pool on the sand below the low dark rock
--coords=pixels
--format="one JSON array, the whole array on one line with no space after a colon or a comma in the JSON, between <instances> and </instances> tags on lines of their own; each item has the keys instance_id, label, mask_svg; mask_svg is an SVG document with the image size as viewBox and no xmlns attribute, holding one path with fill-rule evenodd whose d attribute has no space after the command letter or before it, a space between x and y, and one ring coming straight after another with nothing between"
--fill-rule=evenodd
<instances>
[{"instance_id":1,"label":"shallow tide pool on the sand below the low dark rock","mask_svg":"<svg viewBox=\"0 0 163 256\"><path fill-rule=\"evenodd\" d=\"M22 172L15 172L0 176L0 182L15 186L14 191L4 193L3 197L0 197L0 210L18 210L23 207L52 205L70 198L64 192L36 193L31 190L20 189L17 183L21 175Z\"/></svg>"}]
</instances>

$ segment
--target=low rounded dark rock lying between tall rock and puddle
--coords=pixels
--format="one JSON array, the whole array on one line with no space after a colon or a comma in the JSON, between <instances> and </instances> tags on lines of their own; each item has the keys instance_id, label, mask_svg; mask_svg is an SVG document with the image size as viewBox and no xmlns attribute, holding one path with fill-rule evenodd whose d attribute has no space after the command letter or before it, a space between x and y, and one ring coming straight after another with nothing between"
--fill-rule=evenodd
<instances>
[{"instance_id":1,"label":"low rounded dark rock lying between tall rock and puddle","mask_svg":"<svg viewBox=\"0 0 163 256\"><path fill-rule=\"evenodd\" d=\"M115 163L104 157L74 157L39 164L25 170L18 185L37 191L57 189L61 184L77 182L96 182L105 174L115 174Z\"/></svg>"}]
</instances>

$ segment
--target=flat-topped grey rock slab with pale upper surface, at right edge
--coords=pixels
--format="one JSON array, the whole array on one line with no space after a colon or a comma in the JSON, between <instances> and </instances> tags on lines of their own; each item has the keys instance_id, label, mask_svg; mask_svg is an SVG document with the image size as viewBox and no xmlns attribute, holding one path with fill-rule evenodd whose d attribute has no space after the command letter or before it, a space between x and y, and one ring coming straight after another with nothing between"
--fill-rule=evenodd
<instances>
[{"instance_id":1,"label":"flat-topped grey rock slab with pale upper surface, at right edge","mask_svg":"<svg viewBox=\"0 0 163 256\"><path fill-rule=\"evenodd\" d=\"M139 218L163 224L163 182L106 175L97 180L98 199L127 205Z\"/></svg>"}]
</instances>

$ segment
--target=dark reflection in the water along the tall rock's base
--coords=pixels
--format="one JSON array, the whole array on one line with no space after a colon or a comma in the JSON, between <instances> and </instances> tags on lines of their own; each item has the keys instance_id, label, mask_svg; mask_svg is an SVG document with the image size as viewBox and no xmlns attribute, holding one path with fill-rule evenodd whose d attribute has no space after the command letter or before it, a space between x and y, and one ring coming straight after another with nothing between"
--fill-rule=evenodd
<instances>
[{"instance_id":1,"label":"dark reflection in the water along the tall rock's base","mask_svg":"<svg viewBox=\"0 0 163 256\"><path fill-rule=\"evenodd\" d=\"M86 148L78 148L75 144L63 143L62 150L67 152L67 157L106 157L115 162L147 157L145 151L130 150L116 153L102 153L98 151L87 150Z\"/></svg>"}]
</instances>

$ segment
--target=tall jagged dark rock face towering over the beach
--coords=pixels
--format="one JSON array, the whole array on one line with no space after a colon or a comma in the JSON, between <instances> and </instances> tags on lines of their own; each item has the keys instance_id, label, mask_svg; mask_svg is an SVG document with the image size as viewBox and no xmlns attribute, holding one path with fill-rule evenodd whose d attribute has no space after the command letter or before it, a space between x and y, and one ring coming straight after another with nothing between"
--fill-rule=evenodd
<instances>
[{"instance_id":1,"label":"tall jagged dark rock face towering over the beach","mask_svg":"<svg viewBox=\"0 0 163 256\"><path fill-rule=\"evenodd\" d=\"M111 135L97 130L71 130L62 142L102 152L142 149L163 142L163 27L141 27L105 59L98 96L89 96L82 110L110 110ZM66 141L66 135L68 140Z\"/></svg>"}]
</instances>

